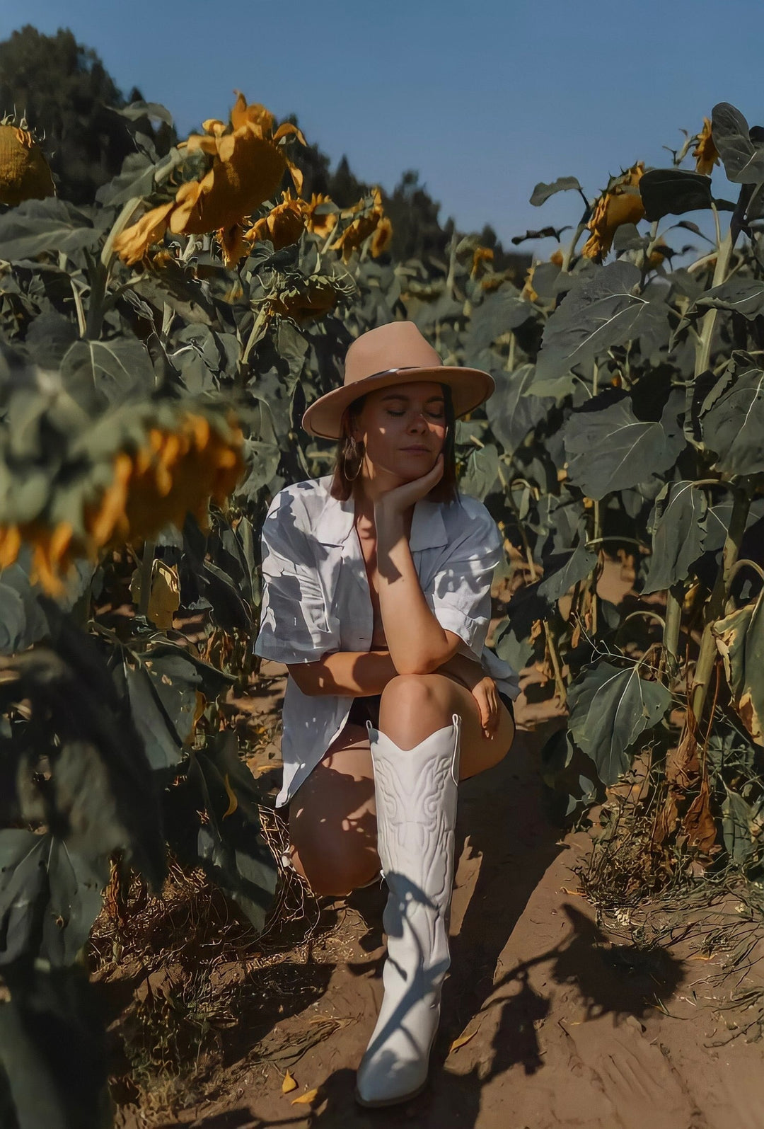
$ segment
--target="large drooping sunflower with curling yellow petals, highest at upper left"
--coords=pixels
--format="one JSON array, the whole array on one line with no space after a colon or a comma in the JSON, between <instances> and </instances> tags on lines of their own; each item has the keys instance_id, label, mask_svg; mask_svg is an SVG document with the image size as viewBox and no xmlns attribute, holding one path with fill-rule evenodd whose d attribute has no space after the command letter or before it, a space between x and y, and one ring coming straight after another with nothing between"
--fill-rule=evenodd
<instances>
[{"instance_id":1,"label":"large drooping sunflower with curling yellow petals, highest at upper left","mask_svg":"<svg viewBox=\"0 0 764 1129\"><path fill-rule=\"evenodd\" d=\"M274 194L287 168L297 191L302 189L302 174L280 141L296 137L306 145L305 137L291 122L284 122L275 131L274 124L275 119L265 106L247 105L244 95L237 91L230 129L219 119L208 119L204 133L192 133L183 142L187 152L211 158L208 172L200 180L182 184L172 204L163 205L161 216L160 209L152 209L123 231L114 244L120 257L129 264L138 262L169 228L175 235L216 231L227 264L238 261L237 254L244 248L237 228Z\"/></svg>"}]
</instances>

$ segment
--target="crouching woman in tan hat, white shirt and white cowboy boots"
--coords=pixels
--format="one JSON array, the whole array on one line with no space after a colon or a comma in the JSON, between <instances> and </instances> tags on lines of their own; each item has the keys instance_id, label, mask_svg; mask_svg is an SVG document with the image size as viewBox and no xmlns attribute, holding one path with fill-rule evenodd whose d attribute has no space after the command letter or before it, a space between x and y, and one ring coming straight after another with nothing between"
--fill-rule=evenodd
<instances>
[{"instance_id":1,"label":"crouching woman in tan hat, white shirt and white cowboy boots","mask_svg":"<svg viewBox=\"0 0 764 1129\"><path fill-rule=\"evenodd\" d=\"M493 391L444 366L409 322L361 334L344 384L306 411L337 439L333 475L287 487L263 526L255 647L289 669L283 787L290 861L316 893L379 872L383 1006L357 1085L392 1105L425 1085L448 969L457 780L515 735L517 680L483 649L501 540L456 489L456 418Z\"/></svg>"}]
</instances>

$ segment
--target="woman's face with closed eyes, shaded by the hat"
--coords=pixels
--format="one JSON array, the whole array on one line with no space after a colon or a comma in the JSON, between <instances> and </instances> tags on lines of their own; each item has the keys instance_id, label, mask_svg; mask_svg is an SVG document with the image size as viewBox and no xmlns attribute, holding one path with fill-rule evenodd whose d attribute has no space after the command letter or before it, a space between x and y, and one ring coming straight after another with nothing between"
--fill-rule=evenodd
<instances>
[{"instance_id":1,"label":"woman's face with closed eyes, shaded by the hat","mask_svg":"<svg viewBox=\"0 0 764 1129\"><path fill-rule=\"evenodd\" d=\"M353 435L363 441L371 476L420 479L434 466L446 438L440 385L412 380L368 393Z\"/></svg>"}]
</instances>

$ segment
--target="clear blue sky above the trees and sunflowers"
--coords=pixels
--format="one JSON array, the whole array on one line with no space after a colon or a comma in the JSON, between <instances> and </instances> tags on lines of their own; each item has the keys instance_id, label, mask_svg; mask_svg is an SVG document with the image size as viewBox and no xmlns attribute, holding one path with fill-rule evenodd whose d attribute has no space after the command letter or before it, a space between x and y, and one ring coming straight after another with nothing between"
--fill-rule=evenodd
<instances>
[{"instance_id":1,"label":"clear blue sky above the trees and sunflowers","mask_svg":"<svg viewBox=\"0 0 764 1129\"><path fill-rule=\"evenodd\" d=\"M226 117L239 88L370 183L419 169L441 220L490 222L504 245L577 221L574 194L528 203L538 181L578 176L592 196L638 159L668 164L661 146L717 102L764 124L763 0L2 0L0 37L26 23L70 27L181 131Z\"/></svg>"}]
</instances>

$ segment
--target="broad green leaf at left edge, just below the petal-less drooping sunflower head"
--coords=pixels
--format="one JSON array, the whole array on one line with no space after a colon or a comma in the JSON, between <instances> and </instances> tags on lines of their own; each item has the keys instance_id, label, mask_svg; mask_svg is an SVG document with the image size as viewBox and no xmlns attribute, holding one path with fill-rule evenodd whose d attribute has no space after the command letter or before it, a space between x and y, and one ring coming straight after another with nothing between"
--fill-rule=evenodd
<instances>
[{"instance_id":1,"label":"broad green leaf at left edge, just below the petal-less drooping sunflower head","mask_svg":"<svg viewBox=\"0 0 764 1129\"><path fill-rule=\"evenodd\" d=\"M0 216L0 259L34 259L43 251L72 255L94 247L100 236L100 229L65 200L25 200Z\"/></svg>"}]
</instances>

